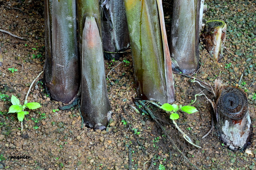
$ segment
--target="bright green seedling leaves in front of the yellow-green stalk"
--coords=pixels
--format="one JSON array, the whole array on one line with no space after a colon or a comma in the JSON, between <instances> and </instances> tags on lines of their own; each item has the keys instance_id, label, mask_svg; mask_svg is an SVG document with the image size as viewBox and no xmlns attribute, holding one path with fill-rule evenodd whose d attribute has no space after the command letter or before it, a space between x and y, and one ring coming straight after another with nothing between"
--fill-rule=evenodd
<instances>
[{"instance_id":1,"label":"bright green seedling leaves in front of the yellow-green stalk","mask_svg":"<svg viewBox=\"0 0 256 170\"><path fill-rule=\"evenodd\" d=\"M179 107L177 104L171 105L169 103L164 103L160 108L163 110L166 110L166 111L170 111L171 112L170 119L172 119L172 120L176 120L176 119L180 118L179 114L177 113L178 110L184 111L188 114L195 113L198 111L193 106L180 105L180 107Z\"/></svg>"}]
</instances>

